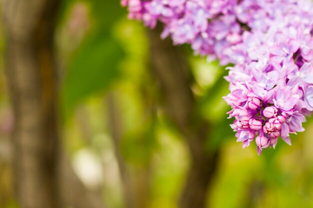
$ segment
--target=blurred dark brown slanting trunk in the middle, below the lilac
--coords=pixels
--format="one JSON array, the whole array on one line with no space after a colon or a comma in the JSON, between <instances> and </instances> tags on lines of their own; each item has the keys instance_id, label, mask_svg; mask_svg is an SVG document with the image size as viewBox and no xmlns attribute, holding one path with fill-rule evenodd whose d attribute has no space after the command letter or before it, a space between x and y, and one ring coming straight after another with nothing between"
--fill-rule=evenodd
<instances>
[{"instance_id":1,"label":"blurred dark brown slanting trunk in the middle, below the lilac","mask_svg":"<svg viewBox=\"0 0 313 208\"><path fill-rule=\"evenodd\" d=\"M206 193L216 170L218 152L204 148L210 125L196 114L196 103L190 89L191 72L186 58L169 38L160 39L162 28L149 30L151 61L163 89L165 110L188 144L191 164L179 208L205 208Z\"/></svg>"}]
</instances>

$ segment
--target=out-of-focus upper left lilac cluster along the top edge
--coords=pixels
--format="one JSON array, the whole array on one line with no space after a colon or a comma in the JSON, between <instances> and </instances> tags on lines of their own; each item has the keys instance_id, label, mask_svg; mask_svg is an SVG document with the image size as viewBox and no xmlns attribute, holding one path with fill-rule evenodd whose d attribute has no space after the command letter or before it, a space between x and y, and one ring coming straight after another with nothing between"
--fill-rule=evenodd
<instances>
[{"instance_id":1,"label":"out-of-focus upper left lilac cluster along the top edge","mask_svg":"<svg viewBox=\"0 0 313 208\"><path fill-rule=\"evenodd\" d=\"M246 0L249 1L249 0ZM174 44L189 43L192 49L227 64L223 49L241 41L245 20L235 0L122 0L129 18L139 19L150 28L164 23L162 37ZM238 17L237 17L238 16ZM224 58L221 58L225 56Z\"/></svg>"}]
</instances>

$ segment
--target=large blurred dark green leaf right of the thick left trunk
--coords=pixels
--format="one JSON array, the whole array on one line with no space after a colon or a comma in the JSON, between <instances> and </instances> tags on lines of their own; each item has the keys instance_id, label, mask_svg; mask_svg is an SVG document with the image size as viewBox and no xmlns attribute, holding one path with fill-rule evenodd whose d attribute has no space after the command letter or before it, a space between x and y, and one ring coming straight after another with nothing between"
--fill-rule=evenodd
<instances>
[{"instance_id":1,"label":"large blurred dark green leaf right of the thick left trunk","mask_svg":"<svg viewBox=\"0 0 313 208\"><path fill-rule=\"evenodd\" d=\"M111 37L92 34L74 54L64 81L65 112L87 96L104 91L118 77L124 52Z\"/></svg>"}]
</instances>

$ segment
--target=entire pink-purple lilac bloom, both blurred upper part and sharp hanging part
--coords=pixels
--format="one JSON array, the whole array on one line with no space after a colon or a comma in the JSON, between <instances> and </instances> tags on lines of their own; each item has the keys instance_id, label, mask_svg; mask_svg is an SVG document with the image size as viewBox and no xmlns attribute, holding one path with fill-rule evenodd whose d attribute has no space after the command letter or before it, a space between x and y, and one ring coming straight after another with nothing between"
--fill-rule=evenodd
<instances>
[{"instance_id":1,"label":"entire pink-purple lilac bloom, both blurred upper part and sharp hanging part","mask_svg":"<svg viewBox=\"0 0 313 208\"><path fill-rule=\"evenodd\" d=\"M257 153L304 131L313 111L311 0L122 0L129 17L227 67L231 128Z\"/></svg>"}]
</instances>

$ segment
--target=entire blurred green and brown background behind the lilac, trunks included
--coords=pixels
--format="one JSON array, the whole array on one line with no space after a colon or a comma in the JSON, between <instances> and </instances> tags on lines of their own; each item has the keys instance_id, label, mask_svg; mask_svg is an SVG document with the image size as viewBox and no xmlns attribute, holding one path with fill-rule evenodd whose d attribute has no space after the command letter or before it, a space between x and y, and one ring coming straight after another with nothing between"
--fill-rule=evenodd
<instances>
[{"instance_id":1,"label":"entire blurred green and brown background behind the lilac, trunks included","mask_svg":"<svg viewBox=\"0 0 313 208\"><path fill-rule=\"evenodd\" d=\"M56 1L1 1L0 208L313 207L311 118L257 156L229 127L218 62L118 0Z\"/></svg>"}]
</instances>

